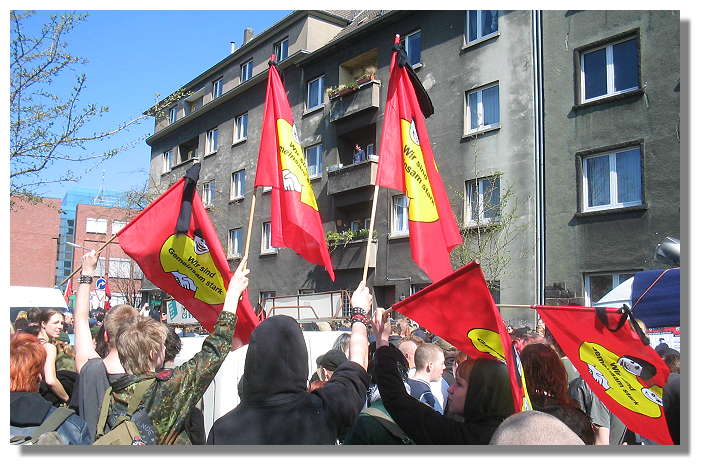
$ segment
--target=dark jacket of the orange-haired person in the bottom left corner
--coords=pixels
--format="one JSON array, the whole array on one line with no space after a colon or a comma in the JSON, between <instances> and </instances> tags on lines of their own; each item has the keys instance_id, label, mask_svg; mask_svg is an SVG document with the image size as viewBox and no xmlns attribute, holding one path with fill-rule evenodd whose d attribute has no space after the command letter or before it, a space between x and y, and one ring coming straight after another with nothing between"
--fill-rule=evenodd
<instances>
[{"instance_id":1,"label":"dark jacket of the orange-haired person in the bottom left corner","mask_svg":"<svg viewBox=\"0 0 705 470\"><path fill-rule=\"evenodd\" d=\"M29 436L57 409L39 393L10 392L10 435ZM69 416L56 432L65 445L87 445L93 442L88 433L88 425L77 415Z\"/></svg>"}]
</instances>

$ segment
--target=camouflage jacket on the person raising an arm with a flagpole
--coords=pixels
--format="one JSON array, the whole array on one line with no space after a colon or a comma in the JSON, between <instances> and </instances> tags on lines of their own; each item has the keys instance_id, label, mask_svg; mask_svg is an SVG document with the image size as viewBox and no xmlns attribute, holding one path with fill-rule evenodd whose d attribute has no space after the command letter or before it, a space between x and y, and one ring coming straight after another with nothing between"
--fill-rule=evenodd
<instances>
[{"instance_id":1,"label":"camouflage jacket on the person raising an arm with a flagpole","mask_svg":"<svg viewBox=\"0 0 705 470\"><path fill-rule=\"evenodd\" d=\"M189 410L198 403L218 373L220 365L230 351L237 318L234 313L223 311L218 317L213 333L204 341L201 351L193 358L174 369L141 375L128 375L113 384L113 405L109 411L108 424L114 422L138 382L155 378L143 400L144 411L150 423L135 413L133 421L140 429L147 444L190 445L185 422Z\"/></svg>"}]
</instances>

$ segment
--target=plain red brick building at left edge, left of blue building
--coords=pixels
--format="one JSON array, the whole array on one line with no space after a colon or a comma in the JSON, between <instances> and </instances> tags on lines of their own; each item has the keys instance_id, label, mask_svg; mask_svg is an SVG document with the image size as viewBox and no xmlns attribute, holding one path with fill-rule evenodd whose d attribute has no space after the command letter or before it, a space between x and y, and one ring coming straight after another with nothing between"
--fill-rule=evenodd
<instances>
[{"instance_id":1,"label":"plain red brick building at left edge, left of blue building","mask_svg":"<svg viewBox=\"0 0 705 470\"><path fill-rule=\"evenodd\" d=\"M61 199L33 203L12 198L10 285L52 287L59 237Z\"/></svg>"}]
</instances>

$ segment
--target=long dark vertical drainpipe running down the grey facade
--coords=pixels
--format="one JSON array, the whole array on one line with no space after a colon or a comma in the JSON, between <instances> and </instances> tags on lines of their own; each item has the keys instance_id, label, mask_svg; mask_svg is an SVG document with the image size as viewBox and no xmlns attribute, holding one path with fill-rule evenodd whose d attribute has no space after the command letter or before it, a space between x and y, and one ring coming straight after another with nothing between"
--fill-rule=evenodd
<instances>
[{"instance_id":1,"label":"long dark vertical drainpipe running down the grey facade","mask_svg":"<svg viewBox=\"0 0 705 470\"><path fill-rule=\"evenodd\" d=\"M535 300L536 304L545 303L544 287L546 285L546 207L544 182L544 114L543 114L543 13L541 10L531 12L532 58L534 66L534 184L535 184Z\"/></svg>"}]
</instances>

